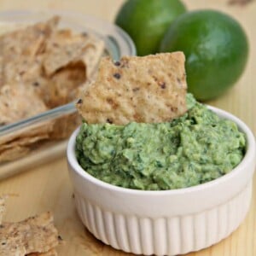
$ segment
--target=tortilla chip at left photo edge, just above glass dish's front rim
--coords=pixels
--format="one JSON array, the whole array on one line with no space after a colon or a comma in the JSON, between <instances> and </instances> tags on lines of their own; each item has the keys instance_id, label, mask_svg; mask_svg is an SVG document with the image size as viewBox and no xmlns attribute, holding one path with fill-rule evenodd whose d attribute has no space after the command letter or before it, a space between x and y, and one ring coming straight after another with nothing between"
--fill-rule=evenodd
<instances>
[{"instance_id":1,"label":"tortilla chip at left photo edge, just above glass dish's front rim","mask_svg":"<svg viewBox=\"0 0 256 256\"><path fill-rule=\"evenodd\" d=\"M48 110L32 88L6 84L0 89L0 125L32 117Z\"/></svg>"}]
</instances>

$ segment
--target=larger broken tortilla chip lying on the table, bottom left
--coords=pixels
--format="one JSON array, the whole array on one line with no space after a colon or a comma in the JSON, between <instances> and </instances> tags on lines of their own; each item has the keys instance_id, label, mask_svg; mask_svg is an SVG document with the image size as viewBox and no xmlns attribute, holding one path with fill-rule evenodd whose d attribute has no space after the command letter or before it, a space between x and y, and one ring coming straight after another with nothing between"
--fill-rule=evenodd
<instances>
[{"instance_id":1,"label":"larger broken tortilla chip lying on the table, bottom left","mask_svg":"<svg viewBox=\"0 0 256 256\"><path fill-rule=\"evenodd\" d=\"M58 244L58 231L50 212L0 226L0 255L47 253Z\"/></svg>"}]
</instances>

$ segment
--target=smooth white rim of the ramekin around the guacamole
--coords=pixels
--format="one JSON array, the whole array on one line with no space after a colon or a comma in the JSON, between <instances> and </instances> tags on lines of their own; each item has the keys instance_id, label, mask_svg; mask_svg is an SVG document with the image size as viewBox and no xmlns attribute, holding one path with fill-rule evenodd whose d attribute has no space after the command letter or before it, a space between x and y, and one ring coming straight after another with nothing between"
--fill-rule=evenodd
<instances>
[{"instance_id":1,"label":"smooth white rim of the ramekin around the guacamole","mask_svg":"<svg viewBox=\"0 0 256 256\"><path fill-rule=\"evenodd\" d=\"M225 174L224 176L218 177L207 183L201 183L192 187L187 187L182 189L140 190L140 189L123 188L123 187L113 185L111 183L103 182L102 180L96 177L93 177L88 172L84 171L84 169L79 165L79 162L76 159L74 146L75 146L75 139L79 133L79 127L75 131L73 131L73 134L69 138L69 141L67 143L67 161L69 165L72 166L73 172L76 172L79 175L79 177L90 181L90 183L94 183L96 186L102 187L104 189L121 192L125 194L130 194L130 195L151 195L151 196L183 195L183 194L189 194L189 193L203 190L203 189L209 189L210 187L216 186L219 183L228 182L228 180L235 177L237 173L242 172L242 170L244 170L244 167L247 165L247 162L255 157L255 152L256 152L255 137L253 136L253 132L248 128L248 126L243 121L241 121L241 119L238 119L232 113L228 113L220 108L216 108L212 106L207 106L207 108L211 109L214 113L217 113L218 116L220 117L234 121L236 125L238 125L240 131L242 131L246 135L246 139L247 139L247 152L244 158L241 160L241 163L238 166L236 166L232 171Z\"/></svg>"}]
</instances>

